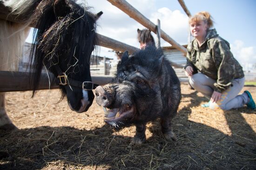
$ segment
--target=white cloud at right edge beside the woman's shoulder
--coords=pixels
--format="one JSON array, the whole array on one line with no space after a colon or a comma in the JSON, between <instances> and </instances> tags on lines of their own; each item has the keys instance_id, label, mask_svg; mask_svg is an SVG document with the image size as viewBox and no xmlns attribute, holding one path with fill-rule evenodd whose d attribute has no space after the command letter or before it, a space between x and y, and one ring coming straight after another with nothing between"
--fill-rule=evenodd
<instances>
[{"instance_id":1,"label":"white cloud at right edge beside the woman's shoulder","mask_svg":"<svg viewBox=\"0 0 256 170\"><path fill-rule=\"evenodd\" d=\"M244 46L244 42L241 40L235 40L234 43L230 44L231 52L236 60L243 66L244 70L248 70L256 64L255 49L255 46Z\"/></svg>"}]
</instances>

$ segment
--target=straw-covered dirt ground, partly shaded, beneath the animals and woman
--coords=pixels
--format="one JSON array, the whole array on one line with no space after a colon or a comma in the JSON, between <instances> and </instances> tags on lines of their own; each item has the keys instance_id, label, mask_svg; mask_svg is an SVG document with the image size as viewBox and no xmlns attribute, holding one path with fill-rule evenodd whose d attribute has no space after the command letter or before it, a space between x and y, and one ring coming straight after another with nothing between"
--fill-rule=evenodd
<instances>
[{"instance_id":1,"label":"straw-covered dirt ground, partly shaded, beneath the animals and woman","mask_svg":"<svg viewBox=\"0 0 256 170\"><path fill-rule=\"evenodd\" d=\"M256 87L244 87L256 99ZM256 110L210 110L202 94L182 84L172 121L176 142L167 142L159 122L147 124L147 139L130 147L135 127L116 131L94 103L70 111L59 90L8 92L6 110L17 131L0 131L4 170L256 170Z\"/></svg>"}]
</instances>

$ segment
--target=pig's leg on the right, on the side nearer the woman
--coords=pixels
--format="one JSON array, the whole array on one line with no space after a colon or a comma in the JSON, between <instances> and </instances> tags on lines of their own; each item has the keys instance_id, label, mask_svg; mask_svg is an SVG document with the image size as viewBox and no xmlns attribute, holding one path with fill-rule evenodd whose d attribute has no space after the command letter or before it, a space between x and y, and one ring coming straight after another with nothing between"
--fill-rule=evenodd
<instances>
[{"instance_id":1,"label":"pig's leg on the right, on the side nearer the woman","mask_svg":"<svg viewBox=\"0 0 256 170\"><path fill-rule=\"evenodd\" d=\"M167 141L176 141L177 137L171 128L171 118L161 118L162 133Z\"/></svg>"}]
</instances>

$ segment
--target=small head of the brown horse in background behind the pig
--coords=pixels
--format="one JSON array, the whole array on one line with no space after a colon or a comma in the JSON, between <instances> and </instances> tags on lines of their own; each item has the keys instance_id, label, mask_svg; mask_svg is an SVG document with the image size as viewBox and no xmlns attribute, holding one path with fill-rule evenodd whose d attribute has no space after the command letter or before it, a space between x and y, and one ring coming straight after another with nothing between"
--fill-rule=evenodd
<instances>
[{"instance_id":1,"label":"small head of the brown horse in background behind the pig","mask_svg":"<svg viewBox=\"0 0 256 170\"><path fill-rule=\"evenodd\" d=\"M153 36L151 35L151 31L148 29L137 29L138 32L138 41L142 44L146 44L151 45L151 46L155 46L155 40L153 38Z\"/></svg>"}]
</instances>

